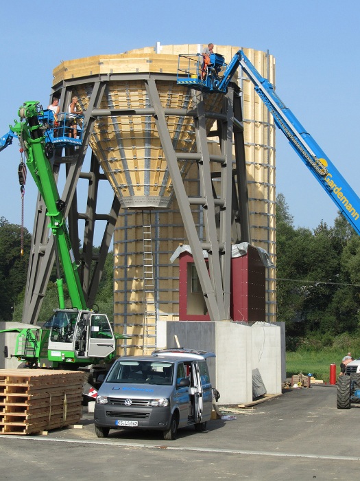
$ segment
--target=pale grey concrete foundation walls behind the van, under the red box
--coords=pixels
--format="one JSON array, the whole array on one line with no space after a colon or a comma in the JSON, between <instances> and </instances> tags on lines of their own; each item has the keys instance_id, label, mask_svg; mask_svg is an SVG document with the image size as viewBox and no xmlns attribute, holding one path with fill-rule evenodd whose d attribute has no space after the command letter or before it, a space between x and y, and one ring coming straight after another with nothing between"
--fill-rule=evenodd
<instances>
[{"instance_id":1,"label":"pale grey concrete foundation walls behind the van, under the red box","mask_svg":"<svg viewBox=\"0 0 360 481\"><path fill-rule=\"evenodd\" d=\"M256 322L158 322L158 348L181 347L213 351L208 365L221 404L250 403L252 372L258 369L267 394L280 394L285 344L281 327Z\"/></svg>"}]
</instances>

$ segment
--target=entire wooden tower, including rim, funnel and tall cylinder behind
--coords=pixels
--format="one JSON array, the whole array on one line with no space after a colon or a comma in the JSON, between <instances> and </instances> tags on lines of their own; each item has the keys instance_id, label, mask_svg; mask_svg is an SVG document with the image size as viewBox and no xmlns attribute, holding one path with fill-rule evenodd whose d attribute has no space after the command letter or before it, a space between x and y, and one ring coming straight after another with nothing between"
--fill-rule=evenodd
<instances>
[{"instance_id":1,"label":"entire wooden tower, including rim, funnel and tall cylinder behind","mask_svg":"<svg viewBox=\"0 0 360 481\"><path fill-rule=\"evenodd\" d=\"M224 94L202 96L176 84L178 55L194 54L200 48L157 45L156 52L147 47L70 60L54 70L54 91L62 89L62 103L66 105L76 95L88 112L84 120L85 127L91 124L88 145L121 207L114 236L114 322L115 328L131 339L118 354L149 352L157 345L158 320L178 320L179 269L178 262L171 263L170 258L179 244L194 245L194 232L199 249L204 247L215 228L213 218L224 216L221 212L226 202L217 199L209 205L204 201L202 186L202 182L208 183L206 177L214 174L214 166L230 164L224 161L225 143L217 138L219 122L226 120ZM215 45L215 52L223 54L228 62L239 48ZM253 49L244 51L261 75L274 83L274 58ZM249 240L267 250L274 261L274 124L250 81L241 72L234 81L241 89L243 104ZM216 135L212 134L214 129ZM207 153L204 136L205 142L208 137ZM230 156L234 158L231 152ZM209 171L203 166L204 159L211 160ZM221 197L223 181L217 185L217 175L212 178ZM230 181L226 182L230 186ZM217 254L223 244L220 239ZM208 245L213 254L214 242ZM217 257L221 256L213 255L210 270L226 271L225 261ZM198 271L206 269L201 260L197 262ZM218 301L217 287L215 297L212 288L202 287L211 308L211 302L214 306ZM267 269L269 322L276 320L275 301L274 269ZM220 304L219 318L228 319L226 300Z\"/></svg>"}]
</instances>

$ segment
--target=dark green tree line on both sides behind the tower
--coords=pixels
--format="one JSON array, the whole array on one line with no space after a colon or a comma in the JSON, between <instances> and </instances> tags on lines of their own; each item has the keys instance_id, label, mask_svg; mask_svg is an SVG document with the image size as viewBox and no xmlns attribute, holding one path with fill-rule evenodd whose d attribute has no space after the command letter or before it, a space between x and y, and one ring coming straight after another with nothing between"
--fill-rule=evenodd
<instances>
[{"instance_id":1,"label":"dark green tree line on both sides behind the tower","mask_svg":"<svg viewBox=\"0 0 360 481\"><path fill-rule=\"evenodd\" d=\"M21 320L32 236L0 218L0 320ZM112 252L106 260L96 303L113 315ZM334 226L294 227L283 194L276 198L277 319L285 321L287 348L317 343L331 346L338 335L360 326L360 236L341 214ZM40 320L58 306L55 270ZM69 306L71 307L71 306Z\"/></svg>"}]
</instances>

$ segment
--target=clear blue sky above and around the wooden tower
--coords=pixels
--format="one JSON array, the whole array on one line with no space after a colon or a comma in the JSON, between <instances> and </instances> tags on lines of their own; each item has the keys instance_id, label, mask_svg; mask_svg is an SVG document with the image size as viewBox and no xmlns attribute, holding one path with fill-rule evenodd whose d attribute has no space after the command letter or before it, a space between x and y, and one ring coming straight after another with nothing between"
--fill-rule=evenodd
<instances>
[{"instance_id":1,"label":"clear blue sky above and around the wooden tower","mask_svg":"<svg viewBox=\"0 0 360 481\"><path fill-rule=\"evenodd\" d=\"M358 0L33 0L0 16L0 135L25 100L49 103L52 70L62 60L117 54L155 45L213 42L276 58L276 91L360 194ZM337 209L287 144L276 137L277 192L296 227L333 225ZM17 142L0 153L0 216L21 223ZM32 232L36 188L25 191L25 227ZM97 238L97 243L100 239Z\"/></svg>"}]
</instances>

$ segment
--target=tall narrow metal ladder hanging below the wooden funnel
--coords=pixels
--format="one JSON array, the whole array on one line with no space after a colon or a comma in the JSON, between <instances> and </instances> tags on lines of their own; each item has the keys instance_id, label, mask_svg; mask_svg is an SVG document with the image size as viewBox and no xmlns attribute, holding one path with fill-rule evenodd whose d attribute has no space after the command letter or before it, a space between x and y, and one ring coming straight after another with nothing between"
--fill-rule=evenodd
<instances>
[{"instance_id":1,"label":"tall narrow metal ladder hanging below the wooden funnel","mask_svg":"<svg viewBox=\"0 0 360 481\"><path fill-rule=\"evenodd\" d=\"M143 354L151 354L152 350L156 348L156 306L151 211L143 211L143 308Z\"/></svg>"}]
</instances>

